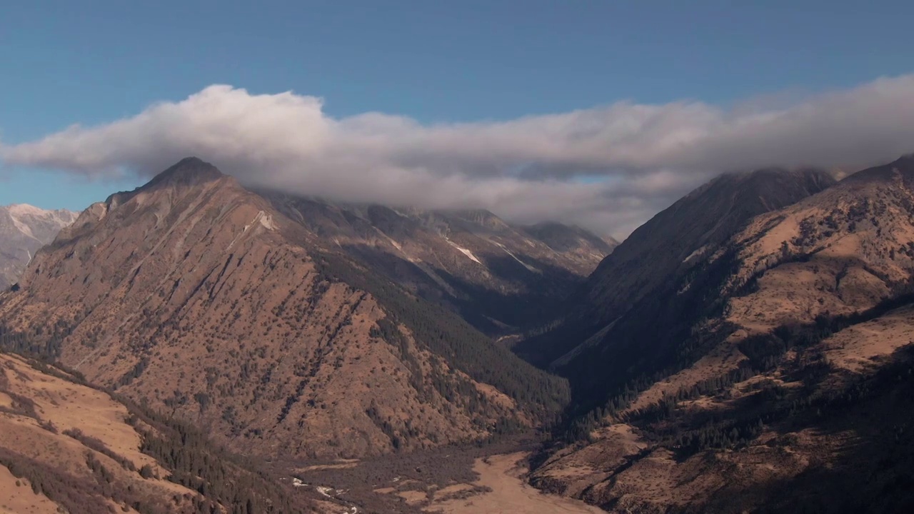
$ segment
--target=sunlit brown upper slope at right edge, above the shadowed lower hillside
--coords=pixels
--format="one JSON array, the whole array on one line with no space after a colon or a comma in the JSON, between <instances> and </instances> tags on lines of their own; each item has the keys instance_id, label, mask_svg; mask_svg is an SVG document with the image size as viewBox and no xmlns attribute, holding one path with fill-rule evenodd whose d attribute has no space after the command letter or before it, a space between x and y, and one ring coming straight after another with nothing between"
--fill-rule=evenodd
<instances>
[{"instance_id":1,"label":"sunlit brown upper slope at right edge, above the shadowed lower hillside","mask_svg":"<svg viewBox=\"0 0 914 514\"><path fill-rule=\"evenodd\" d=\"M909 155L753 220L733 241L740 266L725 292L747 291L732 301L728 318L765 330L850 314L893 295L914 262L912 184Z\"/></svg>"}]
</instances>

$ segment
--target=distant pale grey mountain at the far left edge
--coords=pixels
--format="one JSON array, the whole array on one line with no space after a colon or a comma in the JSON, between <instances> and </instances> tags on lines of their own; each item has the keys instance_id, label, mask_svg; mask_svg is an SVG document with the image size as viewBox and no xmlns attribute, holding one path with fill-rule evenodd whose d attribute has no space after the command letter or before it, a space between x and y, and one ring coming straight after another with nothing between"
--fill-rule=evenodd
<instances>
[{"instance_id":1,"label":"distant pale grey mountain at the far left edge","mask_svg":"<svg viewBox=\"0 0 914 514\"><path fill-rule=\"evenodd\" d=\"M45 210L26 204L0 207L0 290L16 283L39 248L76 220L69 210Z\"/></svg>"}]
</instances>

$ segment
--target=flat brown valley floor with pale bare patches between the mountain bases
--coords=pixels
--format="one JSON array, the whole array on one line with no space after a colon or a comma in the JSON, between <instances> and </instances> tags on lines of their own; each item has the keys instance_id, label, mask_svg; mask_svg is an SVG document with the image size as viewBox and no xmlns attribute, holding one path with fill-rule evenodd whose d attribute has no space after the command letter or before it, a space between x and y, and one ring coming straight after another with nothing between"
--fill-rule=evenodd
<instances>
[{"instance_id":1,"label":"flat brown valley floor with pale bare patches between the mountain bases","mask_svg":"<svg viewBox=\"0 0 914 514\"><path fill-rule=\"evenodd\" d=\"M527 484L533 444L447 447L363 461L275 463L300 487L312 488L346 512L406 514L591 514L579 500Z\"/></svg>"}]
</instances>

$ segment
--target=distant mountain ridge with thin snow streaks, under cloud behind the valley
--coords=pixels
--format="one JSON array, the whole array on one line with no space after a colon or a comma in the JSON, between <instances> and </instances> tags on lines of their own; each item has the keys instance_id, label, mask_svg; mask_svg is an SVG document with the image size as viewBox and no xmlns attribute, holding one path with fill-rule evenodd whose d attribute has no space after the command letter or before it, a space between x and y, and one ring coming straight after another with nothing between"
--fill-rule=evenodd
<instances>
[{"instance_id":1,"label":"distant mountain ridge with thin snow streaks, under cloud behind the valley","mask_svg":"<svg viewBox=\"0 0 914 514\"><path fill-rule=\"evenodd\" d=\"M265 196L327 244L490 335L536 326L618 244L559 223L512 225L486 210Z\"/></svg>"}]
</instances>

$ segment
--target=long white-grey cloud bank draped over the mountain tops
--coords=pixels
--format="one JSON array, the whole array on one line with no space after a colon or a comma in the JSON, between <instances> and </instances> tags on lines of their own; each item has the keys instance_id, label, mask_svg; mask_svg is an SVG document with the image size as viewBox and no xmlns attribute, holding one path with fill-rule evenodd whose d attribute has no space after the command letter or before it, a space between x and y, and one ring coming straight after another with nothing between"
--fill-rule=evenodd
<instances>
[{"instance_id":1,"label":"long white-grey cloud bank draped over the mountain tops","mask_svg":"<svg viewBox=\"0 0 914 514\"><path fill-rule=\"evenodd\" d=\"M788 106L618 102L508 121L422 124L214 85L94 127L0 145L6 166L153 176L197 155L254 187L430 209L491 209L624 237L701 182L763 166L856 169L914 151L914 75Z\"/></svg>"}]
</instances>

